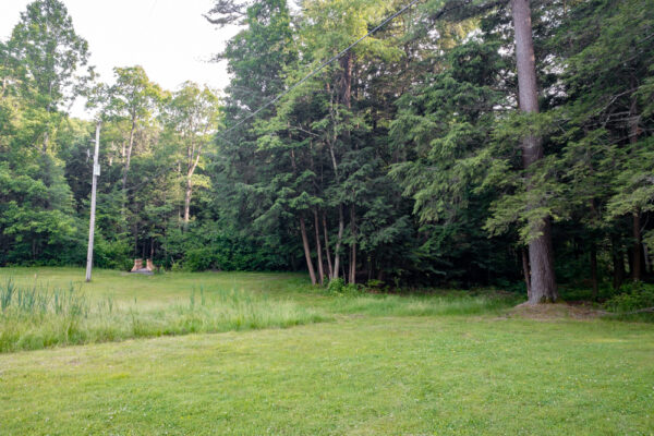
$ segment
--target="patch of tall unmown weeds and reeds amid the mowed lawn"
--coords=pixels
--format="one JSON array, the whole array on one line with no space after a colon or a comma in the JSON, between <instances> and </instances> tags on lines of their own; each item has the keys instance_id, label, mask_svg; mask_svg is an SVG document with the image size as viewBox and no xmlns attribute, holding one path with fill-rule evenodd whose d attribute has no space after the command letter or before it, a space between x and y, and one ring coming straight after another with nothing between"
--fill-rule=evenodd
<instances>
[{"instance_id":1,"label":"patch of tall unmown weeds and reeds amid the mowed lawn","mask_svg":"<svg viewBox=\"0 0 654 436\"><path fill-rule=\"evenodd\" d=\"M0 283L0 352L129 338L289 327L324 317L290 301L237 290L193 289L189 302L148 310L117 304L111 296L90 300L72 286Z\"/></svg>"}]
</instances>

